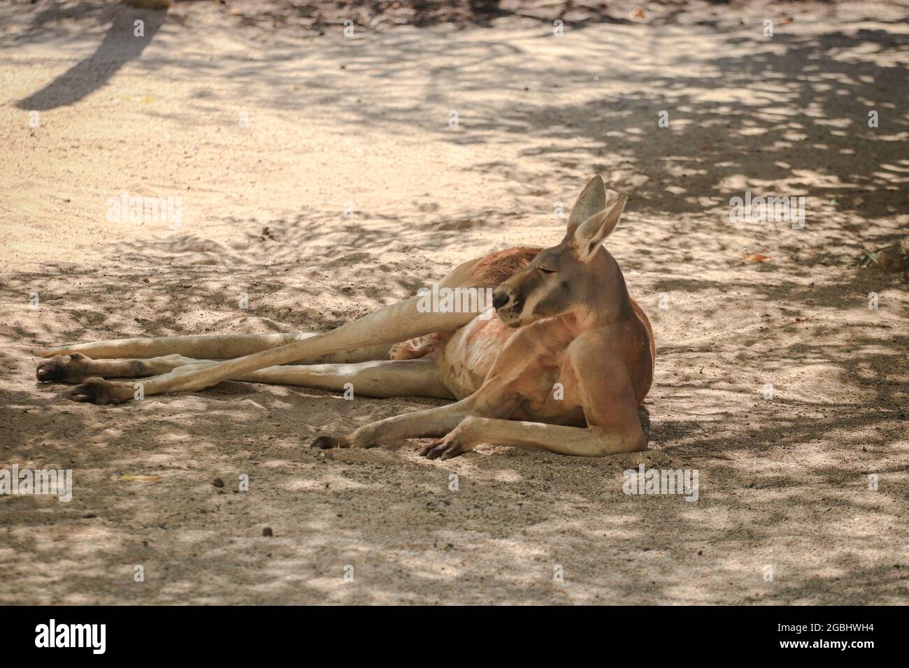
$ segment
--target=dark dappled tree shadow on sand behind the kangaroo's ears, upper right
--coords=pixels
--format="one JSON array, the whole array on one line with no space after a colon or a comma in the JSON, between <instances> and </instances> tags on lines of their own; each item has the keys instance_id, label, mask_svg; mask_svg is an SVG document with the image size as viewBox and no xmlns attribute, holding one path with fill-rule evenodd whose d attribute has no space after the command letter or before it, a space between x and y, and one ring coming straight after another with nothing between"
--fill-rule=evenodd
<instances>
[{"instance_id":1,"label":"dark dappled tree shadow on sand behind the kangaroo's ears, upper right","mask_svg":"<svg viewBox=\"0 0 909 668\"><path fill-rule=\"evenodd\" d=\"M589 35L596 29L579 32ZM457 145L510 144L533 136L536 146L517 155L553 165L557 174L603 173L614 190L634 195L629 201L634 211L701 213L705 200L718 205L745 189L757 194L769 179L784 183L784 194L809 198L809 215L814 208L819 216L821 203L831 203L836 213L899 211L909 119L897 91L909 79L909 69L899 60L884 58L882 64L862 55L868 49L899 48L899 35L868 29L778 34L772 45L735 31L699 35L704 44L667 28L654 29L646 40L623 39L621 45L575 45L574 53L583 51L591 63L609 60L618 49L639 59L633 71L608 74L595 67L579 69L574 59L549 70L524 65L515 60L521 49L494 39L459 43L385 35L376 46L394 48L400 56L394 63L377 62L370 45L328 55L343 61L348 71L368 68L372 76L393 80L410 71L417 58L439 55L445 65L426 73L424 103L443 102L451 89L482 95L493 85L494 73L513 104L500 107L474 97L461 111L458 132L431 123L417 105L390 105L381 114L382 124L388 132L418 124ZM532 53L531 46L524 49ZM499 65L480 69L479 62ZM710 75L692 75L695 68ZM549 90L541 86L560 80ZM572 102L560 94L560 89L596 87L604 94L594 101ZM375 104L384 103L372 98L369 105L350 105L330 94L325 102L346 103L355 125L375 125ZM658 125L661 111L668 114L667 127ZM869 112L877 114L879 126L869 126ZM857 151L856 143L869 150ZM762 160L749 160L754 153ZM487 171L490 165L474 168ZM516 168L503 162L495 171L514 174Z\"/></svg>"}]
</instances>

